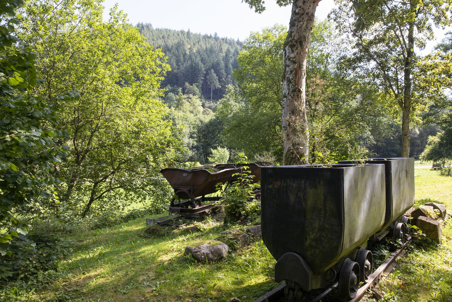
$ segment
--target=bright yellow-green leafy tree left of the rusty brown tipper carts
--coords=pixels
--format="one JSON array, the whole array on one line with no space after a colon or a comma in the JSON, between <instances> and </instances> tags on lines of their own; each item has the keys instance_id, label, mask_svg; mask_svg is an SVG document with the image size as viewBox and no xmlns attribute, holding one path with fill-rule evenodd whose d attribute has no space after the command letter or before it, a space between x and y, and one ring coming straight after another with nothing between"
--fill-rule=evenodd
<instances>
[{"instance_id":1,"label":"bright yellow-green leafy tree left of the rusty brown tipper carts","mask_svg":"<svg viewBox=\"0 0 452 302\"><path fill-rule=\"evenodd\" d=\"M99 0L31 0L21 10L19 37L37 53L37 93L46 104L68 88L56 127L71 132L60 164L62 200L82 216L159 198L158 171L179 158L180 140L165 119L160 81L165 57L114 7L103 20ZM164 200L162 198L162 200Z\"/></svg>"}]
</instances>

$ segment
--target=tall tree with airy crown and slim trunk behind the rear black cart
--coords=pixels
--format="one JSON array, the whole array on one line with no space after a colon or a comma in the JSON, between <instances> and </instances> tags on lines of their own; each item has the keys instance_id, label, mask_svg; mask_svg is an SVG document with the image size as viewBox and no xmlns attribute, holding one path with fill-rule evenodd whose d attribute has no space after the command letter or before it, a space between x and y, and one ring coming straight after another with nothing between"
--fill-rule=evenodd
<instances>
[{"instance_id":1,"label":"tall tree with airy crown and slim trunk behind the rear black cart","mask_svg":"<svg viewBox=\"0 0 452 302\"><path fill-rule=\"evenodd\" d=\"M426 105L428 87L416 85L420 57L433 38L433 27L451 24L451 0L339 0L331 16L338 28L354 39L353 70L361 69L400 109L402 157L410 156L410 118Z\"/></svg>"}]
</instances>

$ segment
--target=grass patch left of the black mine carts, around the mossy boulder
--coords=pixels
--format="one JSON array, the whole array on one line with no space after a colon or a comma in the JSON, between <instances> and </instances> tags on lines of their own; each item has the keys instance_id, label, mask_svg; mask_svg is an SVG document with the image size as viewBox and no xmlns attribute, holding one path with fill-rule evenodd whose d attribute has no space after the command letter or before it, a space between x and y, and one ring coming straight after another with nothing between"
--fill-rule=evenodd
<instances>
[{"instance_id":1,"label":"grass patch left of the black mine carts, around the mossy boulder","mask_svg":"<svg viewBox=\"0 0 452 302\"><path fill-rule=\"evenodd\" d=\"M230 253L226 260L200 264L183 256L191 242L216 238L225 230L213 219L202 232L170 231L146 238L144 219L76 235L78 252L61 263L67 278L38 289L34 298L89 301L252 301L275 286L275 261L262 240ZM246 296L246 298L242 298Z\"/></svg>"}]
</instances>

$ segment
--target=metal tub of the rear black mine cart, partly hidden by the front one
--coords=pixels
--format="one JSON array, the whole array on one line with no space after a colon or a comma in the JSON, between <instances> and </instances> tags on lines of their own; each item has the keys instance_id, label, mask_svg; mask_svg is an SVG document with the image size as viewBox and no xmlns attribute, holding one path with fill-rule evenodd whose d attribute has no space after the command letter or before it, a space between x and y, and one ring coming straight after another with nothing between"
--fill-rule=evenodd
<instances>
[{"instance_id":1,"label":"metal tub of the rear black mine cart, partly hidden by the front one","mask_svg":"<svg viewBox=\"0 0 452 302\"><path fill-rule=\"evenodd\" d=\"M367 158L339 163L371 163L385 165L386 228L414 205L414 158Z\"/></svg>"}]
</instances>

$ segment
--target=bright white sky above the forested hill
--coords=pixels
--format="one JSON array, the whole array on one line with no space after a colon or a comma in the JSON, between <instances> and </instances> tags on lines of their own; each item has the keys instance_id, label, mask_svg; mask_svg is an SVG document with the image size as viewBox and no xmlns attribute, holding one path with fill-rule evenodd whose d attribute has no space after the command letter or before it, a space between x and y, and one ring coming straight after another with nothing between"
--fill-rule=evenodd
<instances>
[{"instance_id":1,"label":"bright white sky above the forested hill","mask_svg":"<svg viewBox=\"0 0 452 302\"><path fill-rule=\"evenodd\" d=\"M254 13L241 0L105 0L104 18L115 3L127 13L130 23L151 23L154 28L190 29L193 33L214 34L244 40L250 31L259 31L275 23L288 25L291 5L279 7L275 0L266 0L266 10ZM334 7L333 0L322 0L315 12L325 19ZM436 29L436 39L427 44L426 51L441 41L451 28Z\"/></svg>"}]
</instances>

